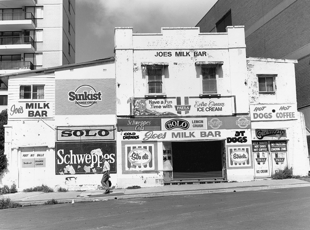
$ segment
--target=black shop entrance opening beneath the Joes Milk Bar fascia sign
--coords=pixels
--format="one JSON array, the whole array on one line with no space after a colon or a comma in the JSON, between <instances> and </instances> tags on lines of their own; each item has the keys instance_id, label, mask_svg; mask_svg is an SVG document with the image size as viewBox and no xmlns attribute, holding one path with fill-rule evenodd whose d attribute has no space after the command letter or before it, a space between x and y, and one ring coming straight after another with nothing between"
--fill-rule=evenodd
<instances>
[{"instance_id":1,"label":"black shop entrance opening beneath the Joes Milk Bar fascia sign","mask_svg":"<svg viewBox=\"0 0 310 230\"><path fill-rule=\"evenodd\" d=\"M221 141L171 142L174 172L222 170Z\"/></svg>"}]
</instances>

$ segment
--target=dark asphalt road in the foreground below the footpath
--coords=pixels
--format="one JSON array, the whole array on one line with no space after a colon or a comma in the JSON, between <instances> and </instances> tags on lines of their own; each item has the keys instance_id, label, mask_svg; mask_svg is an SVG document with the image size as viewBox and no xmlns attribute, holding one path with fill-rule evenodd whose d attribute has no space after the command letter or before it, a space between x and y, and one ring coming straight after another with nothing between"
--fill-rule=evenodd
<instances>
[{"instance_id":1,"label":"dark asphalt road in the foreground below the footpath","mask_svg":"<svg viewBox=\"0 0 310 230\"><path fill-rule=\"evenodd\" d=\"M310 187L0 210L0 229L310 229Z\"/></svg>"}]
</instances>

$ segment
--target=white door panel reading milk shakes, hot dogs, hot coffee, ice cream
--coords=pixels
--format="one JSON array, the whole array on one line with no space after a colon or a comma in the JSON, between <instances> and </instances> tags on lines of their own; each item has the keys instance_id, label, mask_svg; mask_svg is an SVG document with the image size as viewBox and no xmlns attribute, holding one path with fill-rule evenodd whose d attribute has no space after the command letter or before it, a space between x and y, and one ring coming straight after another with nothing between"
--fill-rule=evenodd
<instances>
[{"instance_id":1,"label":"white door panel reading milk shakes, hot dogs, hot coffee, ice cream","mask_svg":"<svg viewBox=\"0 0 310 230\"><path fill-rule=\"evenodd\" d=\"M266 140L252 140L255 177L270 176L269 147Z\"/></svg>"}]
</instances>

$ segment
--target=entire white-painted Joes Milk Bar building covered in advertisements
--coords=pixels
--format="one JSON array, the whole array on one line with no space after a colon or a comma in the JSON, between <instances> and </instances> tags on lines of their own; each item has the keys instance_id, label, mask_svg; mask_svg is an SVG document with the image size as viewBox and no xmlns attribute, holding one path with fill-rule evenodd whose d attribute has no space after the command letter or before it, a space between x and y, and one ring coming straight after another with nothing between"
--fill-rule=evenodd
<instances>
[{"instance_id":1,"label":"entire white-painted Joes Milk Bar building covered in advertisements","mask_svg":"<svg viewBox=\"0 0 310 230\"><path fill-rule=\"evenodd\" d=\"M116 188L250 181L286 165L307 174L295 60L246 57L243 26L124 27L114 39L115 58L4 75L1 184L93 189L103 155ZM202 84L206 67L216 70L212 92ZM149 92L150 69L161 71L160 92ZM271 77L274 90L262 91L259 77ZM44 98L21 99L21 85L44 85Z\"/></svg>"}]
</instances>

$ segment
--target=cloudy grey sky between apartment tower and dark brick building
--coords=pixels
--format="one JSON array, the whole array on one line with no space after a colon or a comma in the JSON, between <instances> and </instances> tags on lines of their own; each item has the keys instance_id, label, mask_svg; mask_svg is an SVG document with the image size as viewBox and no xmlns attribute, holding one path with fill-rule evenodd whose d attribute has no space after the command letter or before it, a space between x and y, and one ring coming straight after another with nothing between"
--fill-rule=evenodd
<instances>
[{"instance_id":1,"label":"cloudy grey sky between apartment tower and dark brick building","mask_svg":"<svg viewBox=\"0 0 310 230\"><path fill-rule=\"evenodd\" d=\"M114 56L114 28L193 27L216 0L76 0L75 62Z\"/></svg>"}]
</instances>

